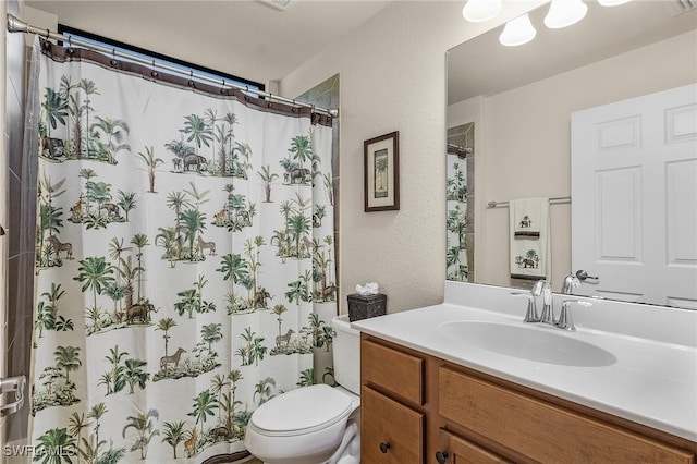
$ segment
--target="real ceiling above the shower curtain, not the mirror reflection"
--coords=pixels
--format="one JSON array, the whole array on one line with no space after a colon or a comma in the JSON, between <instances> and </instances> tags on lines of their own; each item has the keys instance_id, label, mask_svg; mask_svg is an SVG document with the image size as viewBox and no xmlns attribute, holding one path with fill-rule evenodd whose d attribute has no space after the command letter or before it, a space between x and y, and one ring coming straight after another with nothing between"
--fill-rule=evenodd
<instances>
[{"instance_id":1,"label":"real ceiling above the shower curtain, not the mirror reflection","mask_svg":"<svg viewBox=\"0 0 697 464\"><path fill-rule=\"evenodd\" d=\"M25 0L66 26L262 84L391 2L295 0L279 10L265 0Z\"/></svg>"}]
</instances>

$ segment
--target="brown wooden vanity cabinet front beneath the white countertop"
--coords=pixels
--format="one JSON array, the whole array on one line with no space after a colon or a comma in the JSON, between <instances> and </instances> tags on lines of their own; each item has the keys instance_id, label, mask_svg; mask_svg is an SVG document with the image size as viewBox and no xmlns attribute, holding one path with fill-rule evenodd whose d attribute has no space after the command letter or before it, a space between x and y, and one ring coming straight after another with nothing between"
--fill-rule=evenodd
<instances>
[{"instance_id":1,"label":"brown wooden vanity cabinet front beneath the white countertop","mask_svg":"<svg viewBox=\"0 0 697 464\"><path fill-rule=\"evenodd\" d=\"M697 443L362 335L362 463L696 464Z\"/></svg>"}]
</instances>

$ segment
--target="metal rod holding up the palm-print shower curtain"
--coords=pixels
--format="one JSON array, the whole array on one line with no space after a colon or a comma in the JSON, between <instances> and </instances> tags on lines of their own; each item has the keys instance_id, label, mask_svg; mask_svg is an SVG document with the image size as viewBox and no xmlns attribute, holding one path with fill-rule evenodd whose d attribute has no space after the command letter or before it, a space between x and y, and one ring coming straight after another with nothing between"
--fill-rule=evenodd
<instances>
[{"instance_id":1,"label":"metal rod holding up the palm-print shower curtain","mask_svg":"<svg viewBox=\"0 0 697 464\"><path fill-rule=\"evenodd\" d=\"M258 95L260 97L266 97L266 98L269 98L269 99L272 99L272 100L282 101L284 103L293 105L293 106L296 106L296 107L311 108L314 111L318 111L318 112L321 112L321 113L329 114L332 118L337 118L339 115L339 109L338 108L316 107L315 105L311 105L311 103L305 103L303 101L296 101L294 99L281 97L279 95L272 95L272 94L270 94L268 91L255 90L253 88L249 88L246 85L240 85L240 84L225 82L224 80L213 78L213 77L210 77L210 76L207 76L207 75L204 75L204 74L198 74L198 73L195 73L195 72L185 73L185 72L182 72L182 70L180 70L180 69L176 69L174 66L170 66L169 64L158 63L158 62L156 62L156 60L147 60L145 58L137 57L135 54L122 52L122 51L119 51L119 50L115 50L115 49L112 49L112 48L101 47L101 46L98 46L98 45L95 45L95 44L89 44L89 42L81 40L81 39L66 37L66 36L62 35L62 34L52 33L49 29L41 29L39 27L32 26L32 25L23 22L19 17L13 16L11 14L8 14L8 32L10 32L10 33L36 34L36 35L39 35L41 37L46 37L47 39L61 40L61 41L68 42L69 45L75 44L75 45L78 45L81 47L88 48L90 50L99 51L101 53L106 53L106 54L109 54L109 56L117 56L117 57L120 57L120 58L125 58L127 60L136 61L138 63L146 64L148 66L160 68L160 69L167 70L167 71L171 71L171 72L176 73L176 74L186 74L186 75L189 75L189 76L203 80L203 81L207 81L207 82L213 83L216 85L220 85L222 87L236 88L239 90L256 94L256 95Z\"/></svg>"}]
</instances>

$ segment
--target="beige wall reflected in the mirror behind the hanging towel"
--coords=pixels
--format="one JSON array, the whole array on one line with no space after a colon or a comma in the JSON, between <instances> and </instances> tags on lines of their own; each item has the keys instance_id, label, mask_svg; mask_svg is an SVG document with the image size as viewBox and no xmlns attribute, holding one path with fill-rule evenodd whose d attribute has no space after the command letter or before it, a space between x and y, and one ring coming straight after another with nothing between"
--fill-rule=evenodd
<instances>
[{"instance_id":1,"label":"beige wall reflected in the mirror behind the hanging towel","mask_svg":"<svg viewBox=\"0 0 697 464\"><path fill-rule=\"evenodd\" d=\"M697 82L697 33L488 98L452 105L455 124L481 121L476 158L476 281L509 285L506 208L491 200L571 194L573 111ZM473 102L473 100L475 100ZM474 105L476 102L476 105ZM553 102L553 105L548 105ZM451 124L453 125L453 124ZM571 268L571 206L551 207L552 288Z\"/></svg>"}]
</instances>

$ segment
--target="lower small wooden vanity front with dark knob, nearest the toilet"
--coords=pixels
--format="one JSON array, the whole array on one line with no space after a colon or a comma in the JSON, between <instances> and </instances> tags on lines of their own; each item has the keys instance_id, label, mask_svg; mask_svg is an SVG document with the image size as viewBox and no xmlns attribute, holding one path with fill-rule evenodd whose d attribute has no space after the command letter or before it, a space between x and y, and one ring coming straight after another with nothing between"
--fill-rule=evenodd
<instances>
[{"instance_id":1,"label":"lower small wooden vanity front with dark knob, nearest the toilet","mask_svg":"<svg viewBox=\"0 0 697 464\"><path fill-rule=\"evenodd\" d=\"M423 464L424 414L364 387L360 396L362 464Z\"/></svg>"}]
</instances>

